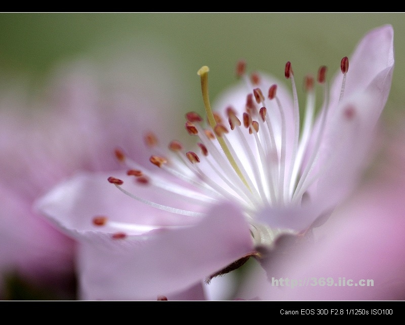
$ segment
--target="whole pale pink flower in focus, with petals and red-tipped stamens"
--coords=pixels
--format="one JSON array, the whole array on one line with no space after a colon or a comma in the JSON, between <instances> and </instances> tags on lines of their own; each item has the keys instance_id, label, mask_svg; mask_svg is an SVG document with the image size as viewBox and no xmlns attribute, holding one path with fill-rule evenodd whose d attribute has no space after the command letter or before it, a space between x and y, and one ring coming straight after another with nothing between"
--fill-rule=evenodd
<instances>
[{"instance_id":1,"label":"whole pale pink flower in focus, with petals and red-tipped stamens","mask_svg":"<svg viewBox=\"0 0 405 325\"><path fill-rule=\"evenodd\" d=\"M153 147L150 161L160 169L149 171L117 150L126 172L82 173L39 200L38 209L83 242L82 297L155 299L185 290L260 255L259 248L272 248L280 234L319 225L360 176L393 64L387 25L342 59L330 92L321 67L324 104L313 124L314 79L308 77L302 130L290 62L285 75L293 97L271 77L247 77L240 62L244 83L228 91L215 112L209 69L202 67L208 127L198 114L186 114L186 130L199 138L201 153L186 152L178 141L169 144L171 152Z\"/></svg>"}]
</instances>

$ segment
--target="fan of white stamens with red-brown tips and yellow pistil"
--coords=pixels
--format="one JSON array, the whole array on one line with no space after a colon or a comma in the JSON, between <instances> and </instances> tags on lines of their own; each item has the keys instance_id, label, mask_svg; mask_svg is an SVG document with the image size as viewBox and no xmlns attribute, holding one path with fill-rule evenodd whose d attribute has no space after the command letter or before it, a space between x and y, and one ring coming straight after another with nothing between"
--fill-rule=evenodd
<instances>
[{"instance_id":1,"label":"fan of white stamens with red-brown tips and yellow pistil","mask_svg":"<svg viewBox=\"0 0 405 325\"><path fill-rule=\"evenodd\" d=\"M266 79L258 73L248 77L245 69L245 62L239 61L236 73L238 77L244 78L247 84L246 101L242 103L243 107L229 105L222 116L211 108L208 91L209 68L203 66L198 70L208 123L206 124L204 118L196 112L187 113L185 123L189 135L199 139L198 153L184 150L184 146L177 140L173 140L169 144L170 151L165 152L158 147L154 134L145 136L145 142L150 148L160 150L150 157L150 162L166 171L169 178L152 173L145 175L145 170L129 159L123 151L115 151L117 159L126 164L127 174L135 177L137 184L153 185L162 193L176 195L175 203L192 201L196 209L186 210L176 207L176 204L160 204L127 191L123 187L123 180L110 177L108 181L125 194L154 208L190 217L203 216L208 204L224 198L235 201L242 206L247 220L255 229L252 235L255 239L260 237L257 242L263 243L268 241L268 238L271 241L274 235L282 230L272 230L257 224L257 211L266 206L305 204L308 199L306 191L322 170L320 167L317 172L313 172L329 109L327 69L325 66L320 67L317 75L317 82L323 88L324 100L316 128L313 122L315 92L312 76L305 78L307 100L305 118L301 126L291 63L286 64L285 76L292 83L292 103L282 102L284 97L278 97L277 85L268 85ZM344 95L347 70L348 59L345 57L341 61L344 78L340 100ZM267 98L262 90L267 91ZM350 119L353 115L354 111L347 111L347 118ZM102 220L102 224L107 222ZM100 219L95 218L94 223L98 224L96 221L100 223ZM118 227L118 230L125 230L125 227L126 225L121 229Z\"/></svg>"}]
</instances>

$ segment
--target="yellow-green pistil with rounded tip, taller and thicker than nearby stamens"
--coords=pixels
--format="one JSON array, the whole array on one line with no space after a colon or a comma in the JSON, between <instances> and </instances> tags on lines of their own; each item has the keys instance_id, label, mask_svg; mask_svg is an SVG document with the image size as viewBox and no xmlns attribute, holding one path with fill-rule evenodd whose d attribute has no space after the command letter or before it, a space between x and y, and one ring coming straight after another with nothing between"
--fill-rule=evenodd
<instances>
[{"instance_id":1,"label":"yellow-green pistil with rounded tip, taller and thicker than nearby stamens","mask_svg":"<svg viewBox=\"0 0 405 325\"><path fill-rule=\"evenodd\" d=\"M200 79L201 79L201 92L203 93L203 101L204 101L204 106L205 106L205 109L207 112L208 121L211 125L211 128L214 129L217 123L215 121L215 117L214 117L214 114L211 109L210 99L208 96L208 71L210 71L208 66L203 66L198 70L197 74L200 76ZM239 167L236 165L235 159L233 158L232 154L230 153L229 148L226 146L225 141L221 137L219 137L218 142L219 142L222 150L224 150L224 153L225 153L226 157L228 158L228 160L229 160L232 168L236 172L236 174L239 176L239 178L242 180L242 182L245 183L246 187L248 187L250 189L245 177L242 175L242 173L239 170Z\"/></svg>"}]
</instances>

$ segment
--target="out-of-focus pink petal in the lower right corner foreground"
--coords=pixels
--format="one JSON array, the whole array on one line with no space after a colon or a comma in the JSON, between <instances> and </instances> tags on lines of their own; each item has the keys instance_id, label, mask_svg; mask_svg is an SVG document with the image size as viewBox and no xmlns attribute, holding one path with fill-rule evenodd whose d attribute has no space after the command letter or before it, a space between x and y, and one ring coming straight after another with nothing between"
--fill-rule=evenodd
<instances>
[{"instance_id":1,"label":"out-of-focus pink petal in the lower right corner foreground","mask_svg":"<svg viewBox=\"0 0 405 325\"><path fill-rule=\"evenodd\" d=\"M290 279L332 278L330 286L271 288L263 299L289 300L396 300L405 288L404 209L402 195L381 195L376 188L358 197L335 216L337 222L323 229L321 238L307 249L278 261L268 276ZM391 188L389 192L391 193ZM399 193L399 192L398 192ZM341 220L339 220L339 218ZM273 261L274 263L275 261ZM339 286L339 278L342 285ZM373 286L343 286L343 278L373 280Z\"/></svg>"}]
</instances>

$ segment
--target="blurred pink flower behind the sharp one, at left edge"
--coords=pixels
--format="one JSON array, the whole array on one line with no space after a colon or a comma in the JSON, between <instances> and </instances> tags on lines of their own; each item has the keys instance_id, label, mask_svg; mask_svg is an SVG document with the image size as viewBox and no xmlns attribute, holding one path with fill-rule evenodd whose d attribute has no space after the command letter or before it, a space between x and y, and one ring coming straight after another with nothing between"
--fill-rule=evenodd
<instances>
[{"instance_id":1,"label":"blurred pink flower behind the sharp one, at left edge","mask_svg":"<svg viewBox=\"0 0 405 325\"><path fill-rule=\"evenodd\" d=\"M105 66L102 71L93 69L85 61L60 69L34 100L28 101L23 92L5 91L0 96L2 299L8 297L4 277L15 273L62 299L71 296L56 290L58 286L74 289L74 241L32 211L35 199L77 170L120 169L110 154L117 145L139 159L148 158L147 148L133 146L129 135L141 136L146 131L143 121L159 113L153 108L163 103L170 107L174 98L169 93L176 91L173 88L156 96L154 88L150 91L137 84L157 89L167 84L168 75L161 73L160 65L152 65L159 77L147 83L153 71L140 71L145 66L131 71L128 62L123 62L125 78L118 61L111 64L111 71ZM114 73L119 73L119 80ZM140 114L139 107L148 109L148 115ZM156 121L156 127L163 126Z\"/></svg>"}]
</instances>

